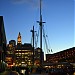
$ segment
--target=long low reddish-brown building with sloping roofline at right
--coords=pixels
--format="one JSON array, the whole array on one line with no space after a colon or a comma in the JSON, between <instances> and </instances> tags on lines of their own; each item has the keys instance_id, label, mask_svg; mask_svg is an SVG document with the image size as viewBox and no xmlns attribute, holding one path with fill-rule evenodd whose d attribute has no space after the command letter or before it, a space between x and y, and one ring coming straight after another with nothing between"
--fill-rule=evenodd
<instances>
[{"instance_id":1,"label":"long low reddish-brown building with sloping roofline at right","mask_svg":"<svg viewBox=\"0 0 75 75\"><path fill-rule=\"evenodd\" d=\"M75 47L62 50L54 54L46 54L46 62L57 63L57 62L75 62Z\"/></svg>"}]
</instances>

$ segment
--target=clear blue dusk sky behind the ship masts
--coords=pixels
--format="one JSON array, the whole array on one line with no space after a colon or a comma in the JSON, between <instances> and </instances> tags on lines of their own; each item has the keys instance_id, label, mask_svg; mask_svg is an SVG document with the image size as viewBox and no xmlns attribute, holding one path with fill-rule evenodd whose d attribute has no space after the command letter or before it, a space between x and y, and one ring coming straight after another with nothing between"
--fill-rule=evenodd
<instances>
[{"instance_id":1,"label":"clear blue dusk sky behind the ship masts","mask_svg":"<svg viewBox=\"0 0 75 75\"><path fill-rule=\"evenodd\" d=\"M42 0L44 30L48 48L53 53L75 46L74 11L74 0ZM4 18L7 43L10 40L17 42L19 32L22 43L31 43L33 25L37 32L39 30L36 22L40 20L39 0L0 0L0 16ZM44 47L43 51L47 53Z\"/></svg>"}]
</instances>

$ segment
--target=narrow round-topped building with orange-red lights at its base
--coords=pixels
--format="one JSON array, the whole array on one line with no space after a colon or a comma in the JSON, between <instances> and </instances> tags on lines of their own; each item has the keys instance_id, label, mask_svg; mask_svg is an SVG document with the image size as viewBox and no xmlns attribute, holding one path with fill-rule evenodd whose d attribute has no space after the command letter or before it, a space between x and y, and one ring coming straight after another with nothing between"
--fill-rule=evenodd
<instances>
[{"instance_id":1,"label":"narrow round-topped building with orange-red lights at its base","mask_svg":"<svg viewBox=\"0 0 75 75\"><path fill-rule=\"evenodd\" d=\"M15 40L10 40L9 44L7 45L6 62L9 67L12 67L13 63L15 63L15 46Z\"/></svg>"}]
</instances>

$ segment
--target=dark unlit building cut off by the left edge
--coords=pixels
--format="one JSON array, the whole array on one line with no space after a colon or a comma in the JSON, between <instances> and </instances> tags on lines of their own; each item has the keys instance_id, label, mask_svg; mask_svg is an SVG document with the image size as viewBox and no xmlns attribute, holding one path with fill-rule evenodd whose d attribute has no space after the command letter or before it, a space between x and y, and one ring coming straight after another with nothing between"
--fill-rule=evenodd
<instances>
[{"instance_id":1,"label":"dark unlit building cut off by the left edge","mask_svg":"<svg viewBox=\"0 0 75 75\"><path fill-rule=\"evenodd\" d=\"M3 16L0 16L0 61L5 61L6 43L7 41L6 41Z\"/></svg>"}]
</instances>

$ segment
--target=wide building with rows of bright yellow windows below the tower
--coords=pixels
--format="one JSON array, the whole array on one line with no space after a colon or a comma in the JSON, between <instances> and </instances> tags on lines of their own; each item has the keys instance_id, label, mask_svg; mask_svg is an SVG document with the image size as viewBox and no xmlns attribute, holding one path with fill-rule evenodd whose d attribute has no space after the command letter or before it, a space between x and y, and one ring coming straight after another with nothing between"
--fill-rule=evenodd
<instances>
[{"instance_id":1,"label":"wide building with rows of bright yellow windows below the tower","mask_svg":"<svg viewBox=\"0 0 75 75\"><path fill-rule=\"evenodd\" d=\"M16 66L32 66L33 65L33 48L29 43L17 45L15 49Z\"/></svg>"}]
</instances>

